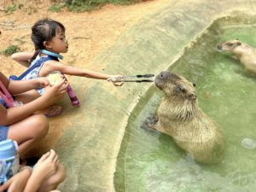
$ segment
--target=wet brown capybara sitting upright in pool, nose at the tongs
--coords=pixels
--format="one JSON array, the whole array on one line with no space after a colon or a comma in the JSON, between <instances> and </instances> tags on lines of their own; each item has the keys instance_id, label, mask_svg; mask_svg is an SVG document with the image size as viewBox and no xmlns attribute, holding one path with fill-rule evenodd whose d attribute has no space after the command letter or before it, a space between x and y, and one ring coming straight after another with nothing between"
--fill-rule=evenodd
<instances>
[{"instance_id":1,"label":"wet brown capybara sitting upright in pool, nose at the tongs","mask_svg":"<svg viewBox=\"0 0 256 192\"><path fill-rule=\"evenodd\" d=\"M222 158L224 138L212 120L201 111L195 84L174 73L161 72L155 85L165 92L155 121L149 128L164 132L192 158L201 163L217 163Z\"/></svg>"}]
</instances>

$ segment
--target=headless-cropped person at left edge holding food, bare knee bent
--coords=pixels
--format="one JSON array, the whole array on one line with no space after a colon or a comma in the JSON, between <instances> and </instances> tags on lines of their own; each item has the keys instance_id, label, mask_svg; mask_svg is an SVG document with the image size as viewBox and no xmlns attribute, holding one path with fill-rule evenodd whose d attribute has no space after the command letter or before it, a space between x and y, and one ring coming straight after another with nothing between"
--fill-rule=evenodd
<instances>
[{"instance_id":1,"label":"headless-cropped person at left edge holding food, bare knee bent","mask_svg":"<svg viewBox=\"0 0 256 192\"><path fill-rule=\"evenodd\" d=\"M20 158L24 159L33 144L41 140L49 129L48 119L43 114L35 114L35 112L56 102L67 91L68 84L63 79L61 83L49 87L47 86L49 81L45 78L9 81L1 72L0 82L11 95L15 96L16 101L24 103L8 108L0 97L0 141L7 138L15 140L19 145ZM43 87L45 87L44 96L38 98L34 96L32 93L34 89ZM1 91L3 92L2 89Z\"/></svg>"}]
</instances>

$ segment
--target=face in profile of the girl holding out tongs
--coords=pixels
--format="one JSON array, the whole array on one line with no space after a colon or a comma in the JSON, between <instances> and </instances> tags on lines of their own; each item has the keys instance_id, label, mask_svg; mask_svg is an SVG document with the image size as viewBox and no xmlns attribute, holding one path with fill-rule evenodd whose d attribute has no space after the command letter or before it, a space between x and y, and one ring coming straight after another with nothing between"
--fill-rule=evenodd
<instances>
[{"instance_id":1,"label":"face in profile of the girl holding out tongs","mask_svg":"<svg viewBox=\"0 0 256 192\"><path fill-rule=\"evenodd\" d=\"M55 37L50 41L46 42L45 47L54 53L67 53L68 43L65 36L65 32L61 31L61 28L58 28L55 34Z\"/></svg>"}]
</instances>

